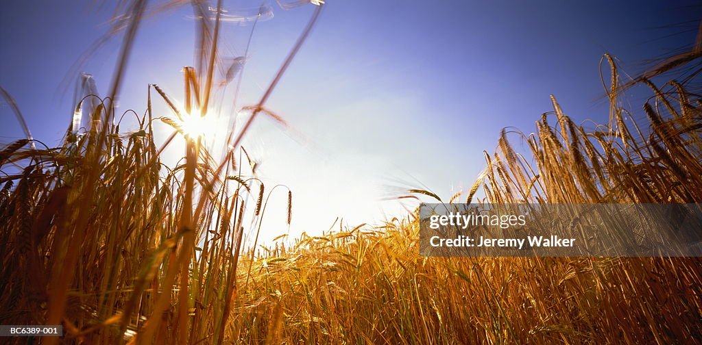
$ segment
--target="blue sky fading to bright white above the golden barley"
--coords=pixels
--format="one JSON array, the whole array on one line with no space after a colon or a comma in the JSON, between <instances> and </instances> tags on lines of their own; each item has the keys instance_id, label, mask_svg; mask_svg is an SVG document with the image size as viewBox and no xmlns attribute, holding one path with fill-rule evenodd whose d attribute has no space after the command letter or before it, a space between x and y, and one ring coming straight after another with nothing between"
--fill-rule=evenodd
<instances>
[{"instance_id":1,"label":"blue sky fading to bright white above the golden barley","mask_svg":"<svg viewBox=\"0 0 702 345\"><path fill-rule=\"evenodd\" d=\"M111 5L98 3L0 1L0 85L50 146L72 116L71 67L107 29ZM232 10L261 4L224 3ZM381 201L399 195L392 187L427 187L444 198L470 187L501 128L531 132L551 110L551 94L576 122L606 121L600 56L611 53L627 72L640 72L647 59L691 44L702 14L694 1L327 3L268 104L291 128L263 119L244 143L267 185L293 190L292 234L319 233L336 217L354 225L398 215L397 201ZM260 97L314 9L271 5L274 17L253 36L241 105ZM191 15L185 6L140 29L121 109L142 113L148 83L182 99L180 69L193 64ZM250 30L225 24L225 55L241 55ZM102 93L118 47L111 41L79 69L95 76ZM164 104L157 109L167 114ZM18 137L20 126L1 104L0 141ZM277 198L264 238L285 232L286 195Z\"/></svg>"}]
</instances>

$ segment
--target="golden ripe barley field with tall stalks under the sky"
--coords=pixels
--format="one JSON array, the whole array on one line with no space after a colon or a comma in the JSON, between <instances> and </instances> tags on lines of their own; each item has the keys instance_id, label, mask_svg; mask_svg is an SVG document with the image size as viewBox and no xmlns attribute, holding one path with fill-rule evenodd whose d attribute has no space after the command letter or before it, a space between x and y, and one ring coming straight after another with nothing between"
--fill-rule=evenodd
<instances>
[{"instance_id":1,"label":"golden ripe barley field with tall stalks under the sky","mask_svg":"<svg viewBox=\"0 0 702 345\"><path fill-rule=\"evenodd\" d=\"M131 15L123 23L117 75L126 66L144 4L135 0L125 7ZM197 130L198 117L210 116L197 110L211 108L216 88L220 11L200 17L200 55L194 67L184 69L182 109L167 90L151 85L149 106L135 112L140 127L120 128L114 119L124 111L111 101L124 87L117 78L106 97L88 95L82 101L91 123L86 131L67 123L58 147L27 137L0 149L0 324L63 325L64 330L63 337L3 341L701 341L698 257L420 257L416 213L339 226L321 236L242 245L245 232L260 229L273 191L287 194L288 222L295 219L295 208L305 207L295 204L295 191L243 175L242 165L251 160L240 144L256 119L283 121L266 102L319 13L333 6L316 5L260 101L249 107L249 121L230 133L223 158L208 151ZM525 115L534 116L533 133L529 128L495 133L496 150L485 151L483 172L449 202L702 202L702 98L695 79L675 79L680 67L699 72L700 57L702 41L622 81L614 58L604 55L608 123L574 123L557 95L551 97L549 113ZM670 75L668 82L652 81ZM634 109L620 101L633 86L649 90L649 100L636 104L647 116L643 121L633 121L628 114ZM11 100L5 90L3 95ZM152 102L168 104L171 116L155 117ZM162 146L154 141L154 123L172 128ZM166 166L161 154L175 137L187 142L183 160ZM527 150L515 149L517 143ZM423 189L399 197L439 198Z\"/></svg>"}]
</instances>

